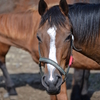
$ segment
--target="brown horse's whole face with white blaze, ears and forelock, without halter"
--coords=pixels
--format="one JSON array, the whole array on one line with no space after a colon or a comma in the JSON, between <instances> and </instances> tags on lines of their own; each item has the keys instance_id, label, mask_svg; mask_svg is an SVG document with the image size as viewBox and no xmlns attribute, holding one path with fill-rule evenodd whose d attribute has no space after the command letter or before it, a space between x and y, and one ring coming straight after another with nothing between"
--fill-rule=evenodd
<instances>
[{"instance_id":1,"label":"brown horse's whole face with white blaze, ears and forelock, without halter","mask_svg":"<svg viewBox=\"0 0 100 100\"><path fill-rule=\"evenodd\" d=\"M66 61L69 59L71 39L71 24L67 17L66 0L61 0L59 6L49 10L44 0L40 0L39 13L42 19L37 38L41 56L53 60L65 69ZM45 64L45 68L47 70L42 77L42 84L49 94L58 94L63 81L62 75L52 64Z\"/></svg>"}]
</instances>

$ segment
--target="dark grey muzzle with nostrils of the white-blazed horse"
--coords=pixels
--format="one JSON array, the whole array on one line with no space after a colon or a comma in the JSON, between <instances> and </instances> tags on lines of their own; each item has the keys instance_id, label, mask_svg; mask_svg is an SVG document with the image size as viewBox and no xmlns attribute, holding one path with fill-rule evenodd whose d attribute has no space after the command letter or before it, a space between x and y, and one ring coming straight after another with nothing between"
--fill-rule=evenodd
<instances>
[{"instance_id":1,"label":"dark grey muzzle with nostrils of the white-blazed horse","mask_svg":"<svg viewBox=\"0 0 100 100\"><path fill-rule=\"evenodd\" d=\"M42 85L50 95L57 95L60 92L62 81L62 77L58 74L54 76L53 80L50 80L47 74L42 76Z\"/></svg>"}]
</instances>

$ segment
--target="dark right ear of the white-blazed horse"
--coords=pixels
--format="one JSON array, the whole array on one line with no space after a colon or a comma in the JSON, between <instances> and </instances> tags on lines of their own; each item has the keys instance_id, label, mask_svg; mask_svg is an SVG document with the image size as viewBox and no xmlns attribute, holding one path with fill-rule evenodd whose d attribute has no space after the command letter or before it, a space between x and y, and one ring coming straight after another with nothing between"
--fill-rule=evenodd
<instances>
[{"instance_id":1,"label":"dark right ear of the white-blazed horse","mask_svg":"<svg viewBox=\"0 0 100 100\"><path fill-rule=\"evenodd\" d=\"M66 0L60 0L59 7L61 8L62 12L67 16L68 15L68 4Z\"/></svg>"}]
</instances>

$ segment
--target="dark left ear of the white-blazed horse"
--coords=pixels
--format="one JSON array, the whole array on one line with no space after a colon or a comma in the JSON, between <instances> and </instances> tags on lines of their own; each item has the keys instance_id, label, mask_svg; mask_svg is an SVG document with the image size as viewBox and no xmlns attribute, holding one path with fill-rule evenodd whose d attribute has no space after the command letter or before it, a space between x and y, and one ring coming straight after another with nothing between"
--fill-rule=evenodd
<instances>
[{"instance_id":1,"label":"dark left ear of the white-blazed horse","mask_svg":"<svg viewBox=\"0 0 100 100\"><path fill-rule=\"evenodd\" d=\"M38 12L42 16L47 11L47 4L44 0L39 1Z\"/></svg>"}]
</instances>

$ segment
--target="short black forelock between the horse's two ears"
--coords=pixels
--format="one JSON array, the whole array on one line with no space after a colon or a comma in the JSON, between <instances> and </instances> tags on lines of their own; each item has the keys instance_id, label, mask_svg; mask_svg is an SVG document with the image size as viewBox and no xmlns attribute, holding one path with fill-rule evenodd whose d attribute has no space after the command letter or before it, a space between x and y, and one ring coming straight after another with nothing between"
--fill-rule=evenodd
<instances>
[{"instance_id":1,"label":"short black forelock between the horse's two ears","mask_svg":"<svg viewBox=\"0 0 100 100\"><path fill-rule=\"evenodd\" d=\"M61 13L59 6L51 7L41 18L40 26L43 25L46 20L48 24L52 27L55 26L65 26L66 17Z\"/></svg>"}]
</instances>

